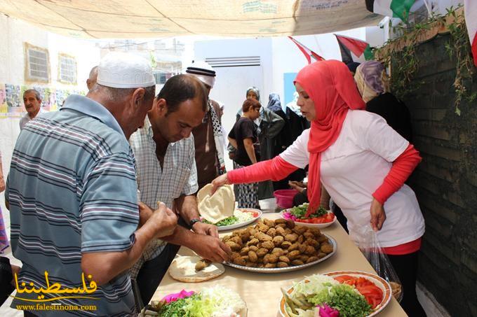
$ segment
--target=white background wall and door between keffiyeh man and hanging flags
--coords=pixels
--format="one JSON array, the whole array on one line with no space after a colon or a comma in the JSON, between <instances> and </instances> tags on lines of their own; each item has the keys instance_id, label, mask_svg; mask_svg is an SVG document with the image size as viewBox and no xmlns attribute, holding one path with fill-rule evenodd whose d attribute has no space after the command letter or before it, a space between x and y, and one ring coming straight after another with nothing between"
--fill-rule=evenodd
<instances>
[{"instance_id":1,"label":"white background wall and door between keffiyeh man and hanging flags","mask_svg":"<svg viewBox=\"0 0 477 317\"><path fill-rule=\"evenodd\" d=\"M337 34L367 40L371 45L382 45L384 31L374 27L340 31ZM309 49L314 50L325 59L341 60L340 48L333 34L318 34L309 36L294 36L297 41ZM260 56L262 66L262 85L260 88L263 106L267 106L271 92L280 95L284 106L283 73L297 73L307 65L307 59L297 46L286 37L276 38L238 38L211 41L198 41L194 45L194 59L210 57L245 57ZM247 67L229 67L227 69L246 69ZM224 71L224 68L215 68L217 80L214 89L210 92L212 99L222 101L226 106L223 124L229 130L234 125L234 115L245 99L246 87L253 85L252 80L247 84L247 77L241 71ZM245 70L244 70L245 71ZM255 72L256 70L254 70ZM233 113L228 115L227 113Z\"/></svg>"}]
</instances>

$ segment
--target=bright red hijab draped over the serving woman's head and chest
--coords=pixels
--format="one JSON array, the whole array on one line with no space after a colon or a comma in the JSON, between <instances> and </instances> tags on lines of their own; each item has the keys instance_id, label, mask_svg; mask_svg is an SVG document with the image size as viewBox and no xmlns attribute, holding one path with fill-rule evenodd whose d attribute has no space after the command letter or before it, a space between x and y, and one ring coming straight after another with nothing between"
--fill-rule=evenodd
<instances>
[{"instance_id":1,"label":"bright red hijab draped over the serving woman's head and chest","mask_svg":"<svg viewBox=\"0 0 477 317\"><path fill-rule=\"evenodd\" d=\"M364 109L365 103L356 88L356 83L343 62L325 60L314 62L298 73L299 83L314 101L316 118L311 122L308 141L309 177L308 198L312 213L320 206L321 153L329 148L340 135L348 109Z\"/></svg>"}]
</instances>

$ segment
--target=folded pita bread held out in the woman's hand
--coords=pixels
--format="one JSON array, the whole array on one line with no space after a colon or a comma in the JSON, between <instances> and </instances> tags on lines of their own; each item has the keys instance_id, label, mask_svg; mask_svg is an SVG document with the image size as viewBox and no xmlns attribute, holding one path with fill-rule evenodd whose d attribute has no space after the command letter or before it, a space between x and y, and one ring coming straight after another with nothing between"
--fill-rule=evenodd
<instances>
[{"instance_id":1,"label":"folded pita bread held out in the woman's hand","mask_svg":"<svg viewBox=\"0 0 477 317\"><path fill-rule=\"evenodd\" d=\"M231 185L224 185L210 196L212 184L205 185L197 192L199 213L210 223L218 223L227 217L234 216L235 195Z\"/></svg>"}]
</instances>

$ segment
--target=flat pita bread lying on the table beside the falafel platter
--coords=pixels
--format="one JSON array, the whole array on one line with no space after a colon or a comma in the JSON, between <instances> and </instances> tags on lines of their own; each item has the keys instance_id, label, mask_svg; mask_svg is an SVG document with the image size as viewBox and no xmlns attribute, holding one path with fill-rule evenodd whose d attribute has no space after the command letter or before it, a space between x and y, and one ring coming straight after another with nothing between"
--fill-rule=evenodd
<instances>
[{"instance_id":1,"label":"flat pita bread lying on the table beside the falafel platter","mask_svg":"<svg viewBox=\"0 0 477 317\"><path fill-rule=\"evenodd\" d=\"M184 283L199 283L214 279L225 272L220 263L210 263L205 269L196 271L196 264L201 258L198 256L180 256L175 258L169 267L169 275Z\"/></svg>"}]
</instances>

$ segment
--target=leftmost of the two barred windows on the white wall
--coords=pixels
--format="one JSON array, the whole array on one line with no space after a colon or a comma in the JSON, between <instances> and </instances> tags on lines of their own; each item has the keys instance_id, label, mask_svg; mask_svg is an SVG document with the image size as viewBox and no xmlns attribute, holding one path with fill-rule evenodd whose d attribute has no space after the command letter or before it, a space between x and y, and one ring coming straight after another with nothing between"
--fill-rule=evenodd
<instances>
[{"instance_id":1,"label":"leftmost of the two barred windows on the white wall","mask_svg":"<svg viewBox=\"0 0 477 317\"><path fill-rule=\"evenodd\" d=\"M48 83L50 81L50 61L48 50L25 43L27 81Z\"/></svg>"}]
</instances>

